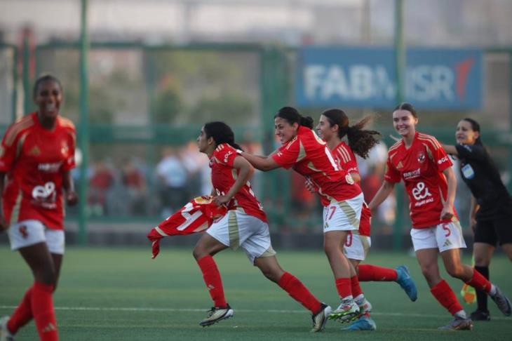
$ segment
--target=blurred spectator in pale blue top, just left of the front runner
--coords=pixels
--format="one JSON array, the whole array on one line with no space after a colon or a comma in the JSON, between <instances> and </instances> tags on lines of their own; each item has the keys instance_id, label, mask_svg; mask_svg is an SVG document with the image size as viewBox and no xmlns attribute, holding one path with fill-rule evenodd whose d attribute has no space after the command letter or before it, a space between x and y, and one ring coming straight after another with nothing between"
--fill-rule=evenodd
<instances>
[{"instance_id":1,"label":"blurred spectator in pale blue top, just left of the front runner","mask_svg":"<svg viewBox=\"0 0 512 341\"><path fill-rule=\"evenodd\" d=\"M187 193L187 169L173 147L162 151L162 159L156 165L159 180L159 196L163 205L162 216L168 217L189 201Z\"/></svg>"}]
</instances>

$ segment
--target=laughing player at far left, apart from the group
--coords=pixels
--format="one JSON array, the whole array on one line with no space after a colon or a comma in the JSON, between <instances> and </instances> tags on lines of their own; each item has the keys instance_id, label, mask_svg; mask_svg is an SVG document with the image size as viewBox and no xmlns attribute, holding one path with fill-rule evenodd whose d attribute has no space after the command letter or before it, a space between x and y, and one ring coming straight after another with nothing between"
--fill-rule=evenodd
<instances>
[{"instance_id":1,"label":"laughing player at far left, apart from the group","mask_svg":"<svg viewBox=\"0 0 512 341\"><path fill-rule=\"evenodd\" d=\"M74 167L75 128L59 116L62 86L53 76L34 85L36 112L11 125L1 142L0 229L20 251L34 275L10 318L1 320L1 340L35 320L41 340L58 340L53 291L64 254L64 204L77 201L69 171ZM64 196L64 197L63 197Z\"/></svg>"}]
</instances>

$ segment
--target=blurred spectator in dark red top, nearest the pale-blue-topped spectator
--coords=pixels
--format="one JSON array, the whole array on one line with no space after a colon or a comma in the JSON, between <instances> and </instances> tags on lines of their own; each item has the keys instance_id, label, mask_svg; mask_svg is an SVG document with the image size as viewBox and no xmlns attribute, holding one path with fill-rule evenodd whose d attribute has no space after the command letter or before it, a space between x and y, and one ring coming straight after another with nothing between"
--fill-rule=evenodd
<instances>
[{"instance_id":1,"label":"blurred spectator in dark red top, nearest the pale-blue-topped spectator","mask_svg":"<svg viewBox=\"0 0 512 341\"><path fill-rule=\"evenodd\" d=\"M135 166L133 159L123 162L121 179L128 191L128 213L144 215L146 213L147 185L142 171Z\"/></svg>"}]
</instances>

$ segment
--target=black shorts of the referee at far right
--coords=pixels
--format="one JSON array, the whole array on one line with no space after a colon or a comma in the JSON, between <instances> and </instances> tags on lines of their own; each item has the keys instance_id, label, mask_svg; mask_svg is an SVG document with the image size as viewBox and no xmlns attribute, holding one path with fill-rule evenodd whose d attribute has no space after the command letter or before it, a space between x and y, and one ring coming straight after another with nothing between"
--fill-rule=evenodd
<instances>
[{"instance_id":1,"label":"black shorts of the referee at far right","mask_svg":"<svg viewBox=\"0 0 512 341\"><path fill-rule=\"evenodd\" d=\"M493 220L477 220L475 243L486 243L492 246L512 243L512 215L502 215Z\"/></svg>"}]
</instances>

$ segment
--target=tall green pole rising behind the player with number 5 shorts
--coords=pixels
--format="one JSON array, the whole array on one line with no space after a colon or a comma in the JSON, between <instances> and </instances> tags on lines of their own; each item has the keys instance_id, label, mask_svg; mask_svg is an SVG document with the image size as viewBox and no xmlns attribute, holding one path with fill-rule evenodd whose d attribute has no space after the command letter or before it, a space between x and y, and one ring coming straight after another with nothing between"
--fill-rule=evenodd
<instances>
[{"instance_id":1,"label":"tall green pole rising behind the player with number 5 shorts","mask_svg":"<svg viewBox=\"0 0 512 341\"><path fill-rule=\"evenodd\" d=\"M396 104L405 98L405 41L403 37L403 0L395 0L395 70L396 70ZM393 228L393 249L402 246L403 191L396 191L396 220Z\"/></svg>"}]
</instances>

